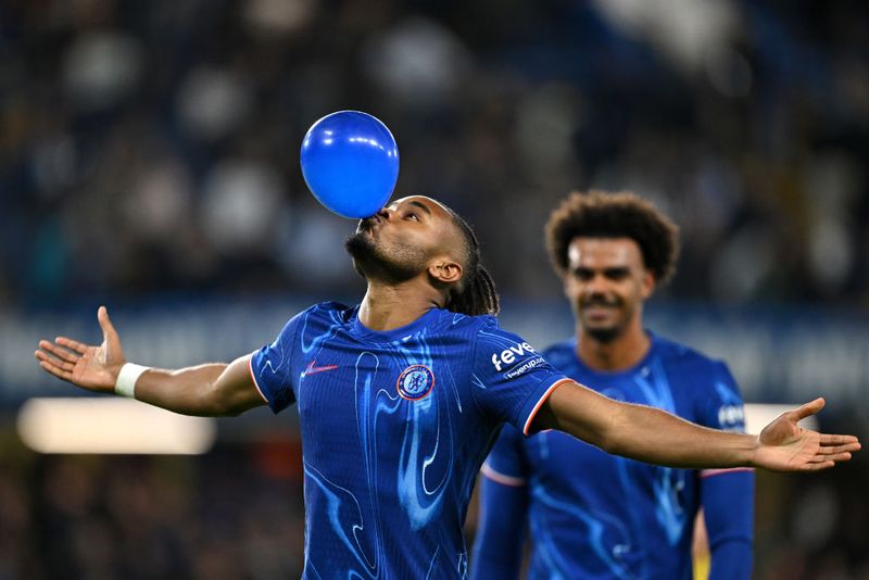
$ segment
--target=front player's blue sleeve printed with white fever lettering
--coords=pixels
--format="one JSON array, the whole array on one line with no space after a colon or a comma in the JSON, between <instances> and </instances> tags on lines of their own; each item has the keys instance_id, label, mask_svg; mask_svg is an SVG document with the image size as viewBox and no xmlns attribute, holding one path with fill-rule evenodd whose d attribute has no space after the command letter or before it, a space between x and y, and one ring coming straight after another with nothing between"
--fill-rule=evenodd
<instances>
[{"instance_id":1,"label":"front player's blue sleeve printed with white fever lettering","mask_svg":"<svg viewBox=\"0 0 869 580\"><path fill-rule=\"evenodd\" d=\"M549 394L569 380L520 337L491 318L478 331L471 383L477 406L490 417L528 434Z\"/></svg>"}]
</instances>

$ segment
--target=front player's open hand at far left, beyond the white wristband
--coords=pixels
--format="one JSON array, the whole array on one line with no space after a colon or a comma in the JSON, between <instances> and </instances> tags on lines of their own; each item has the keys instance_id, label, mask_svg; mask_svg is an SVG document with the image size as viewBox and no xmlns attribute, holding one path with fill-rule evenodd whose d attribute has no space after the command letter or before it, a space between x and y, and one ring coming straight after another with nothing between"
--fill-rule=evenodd
<instances>
[{"instance_id":1,"label":"front player's open hand at far left, beyond the white wristband","mask_svg":"<svg viewBox=\"0 0 869 580\"><path fill-rule=\"evenodd\" d=\"M117 374L126 360L121 349L121 337L105 306L97 311L97 319L102 328L102 344L92 346L66 337L58 337L54 342L39 341L39 350L34 355L42 370L73 384L97 392L113 392Z\"/></svg>"}]
</instances>

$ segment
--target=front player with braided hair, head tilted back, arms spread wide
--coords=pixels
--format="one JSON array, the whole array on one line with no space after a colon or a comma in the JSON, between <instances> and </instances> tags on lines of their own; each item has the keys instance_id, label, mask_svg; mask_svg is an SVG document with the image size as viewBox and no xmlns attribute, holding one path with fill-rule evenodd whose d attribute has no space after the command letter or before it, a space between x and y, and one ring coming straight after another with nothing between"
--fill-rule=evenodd
<instances>
[{"instance_id":1,"label":"front player with braided hair, head tilted back, arms spread wide","mask_svg":"<svg viewBox=\"0 0 869 580\"><path fill-rule=\"evenodd\" d=\"M430 198L404 198L363 219L347 249L367 281L361 304L314 305L273 343L229 364L162 370L128 363L104 307L101 345L60 337L40 341L36 357L85 389L189 415L294 403L306 578L464 577L462 525L504 423L524 433L563 429L676 467L814 471L859 449L854 437L796 426L822 399L750 437L577 384L499 328L473 231Z\"/></svg>"}]
</instances>

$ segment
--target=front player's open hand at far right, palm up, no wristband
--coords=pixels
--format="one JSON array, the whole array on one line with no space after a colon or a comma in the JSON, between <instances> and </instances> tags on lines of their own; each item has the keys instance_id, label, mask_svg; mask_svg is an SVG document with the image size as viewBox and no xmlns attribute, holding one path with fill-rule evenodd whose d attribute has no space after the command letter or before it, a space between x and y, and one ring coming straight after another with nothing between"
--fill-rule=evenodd
<instances>
[{"instance_id":1,"label":"front player's open hand at far right, palm up, no wristband","mask_svg":"<svg viewBox=\"0 0 869 580\"><path fill-rule=\"evenodd\" d=\"M758 437L755 464L776 471L819 471L851 459L860 443L854 436L818 433L797 423L823 408L822 398L779 415Z\"/></svg>"}]
</instances>

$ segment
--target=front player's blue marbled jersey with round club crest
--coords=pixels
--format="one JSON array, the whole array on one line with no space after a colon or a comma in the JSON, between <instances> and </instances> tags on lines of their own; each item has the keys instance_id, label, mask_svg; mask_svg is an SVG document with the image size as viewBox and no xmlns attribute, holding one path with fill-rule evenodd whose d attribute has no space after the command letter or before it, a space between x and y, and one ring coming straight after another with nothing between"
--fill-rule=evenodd
<instances>
[{"instance_id":1,"label":"front player's blue marbled jersey with round club crest","mask_svg":"<svg viewBox=\"0 0 869 580\"><path fill-rule=\"evenodd\" d=\"M254 353L274 412L297 403L305 578L462 578L462 527L504 423L527 430L566 380L491 316L433 308L376 332L323 303Z\"/></svg>"}]
</instances>

